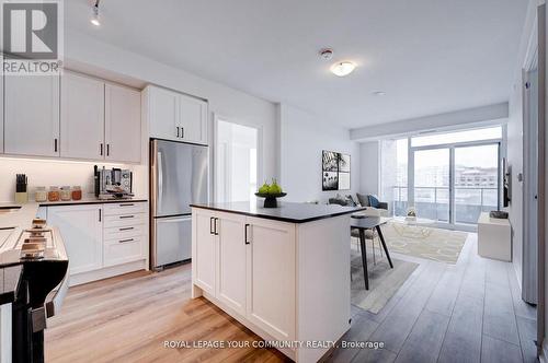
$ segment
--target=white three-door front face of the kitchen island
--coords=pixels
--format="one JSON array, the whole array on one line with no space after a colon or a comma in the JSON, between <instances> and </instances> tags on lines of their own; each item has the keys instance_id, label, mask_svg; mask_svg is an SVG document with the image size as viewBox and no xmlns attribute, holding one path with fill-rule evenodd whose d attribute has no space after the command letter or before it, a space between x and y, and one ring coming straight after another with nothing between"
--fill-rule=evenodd
<instances>
[{"instance_id":1,"label":"white three-door front face of the kitchen island","mask_svg":"<svg viewBox=\"0 0 548 363\"><path fill-rule=\"evenodd\" d=\"M295 337L295 225L193 211L194 284L279 340Z\"/></svg>"}]
</instances>

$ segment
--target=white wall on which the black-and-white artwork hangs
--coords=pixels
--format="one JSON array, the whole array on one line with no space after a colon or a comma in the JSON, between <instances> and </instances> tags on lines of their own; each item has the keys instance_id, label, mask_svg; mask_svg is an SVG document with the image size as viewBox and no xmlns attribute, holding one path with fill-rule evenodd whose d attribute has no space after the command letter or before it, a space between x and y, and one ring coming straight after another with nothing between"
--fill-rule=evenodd
<instances>
[{"instance_id":1,"label":"white wall on which the black-and-white artwork hangs","mask_svg":"<svg viewBox=\"0 0 548 363\"><path fill-rule=\"evenodd\" d=\"M316 115L279 105L279 182L286 201L320 201L336 194L359 190L359 144L350 140L347 129L320 122ZM351 190L321 190L321 152L336 151L351 155ZM265 177L269 175L265 174Z\"/></svg>"}]
</instances>

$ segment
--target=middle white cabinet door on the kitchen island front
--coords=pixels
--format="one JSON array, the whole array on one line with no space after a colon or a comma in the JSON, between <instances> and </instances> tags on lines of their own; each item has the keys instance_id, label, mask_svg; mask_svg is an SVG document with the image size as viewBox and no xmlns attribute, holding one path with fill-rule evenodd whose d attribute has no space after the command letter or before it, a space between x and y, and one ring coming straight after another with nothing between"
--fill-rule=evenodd
<instances>
[{"instance_id":1,"label":"middle white cabinet door on the kitchen island front","mask_svg":"<svg viewBox=\"0 0 548 363\"><path fill-rule=\"evenodd\" d=\"M218 213L217 298L246 316L246 216Z\"/></svg>"}]
</instances>

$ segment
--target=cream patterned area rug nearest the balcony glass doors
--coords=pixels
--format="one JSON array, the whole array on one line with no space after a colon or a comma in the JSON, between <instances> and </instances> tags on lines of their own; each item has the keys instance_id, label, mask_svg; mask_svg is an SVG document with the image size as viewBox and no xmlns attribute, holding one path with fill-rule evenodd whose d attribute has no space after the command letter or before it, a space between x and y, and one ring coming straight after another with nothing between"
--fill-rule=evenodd
<instances>
[{"instance_id":1,"label":"cream patterned area rug nearest the balcony glass doors","mask_svg":"<svg viewBox=\"0 0 548 363\"><path fill-rule=\"evenodd\" d=\"M457 262L468 235L466 232L399 222L387 223L381 229L388 250L447 264Z\"/></svg>"}]
</instances>

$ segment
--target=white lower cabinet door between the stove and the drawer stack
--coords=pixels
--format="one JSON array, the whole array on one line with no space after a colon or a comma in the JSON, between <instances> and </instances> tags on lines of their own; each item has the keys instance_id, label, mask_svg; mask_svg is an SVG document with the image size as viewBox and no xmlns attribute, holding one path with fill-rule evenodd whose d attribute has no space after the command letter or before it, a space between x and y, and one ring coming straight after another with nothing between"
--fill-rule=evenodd
<instances>
[{"instance_id":1,"label":"white lower cabinet door between the stove and the drawer stack","mask_svg":"<svg viewBox=\"0 0 548 363\"><path fill-rule=\"evenodd\" d=\"M70 274L103 266L101 204L48 207L47 223L59 229L69 257Z\"/></svg>"}]
</instances>

